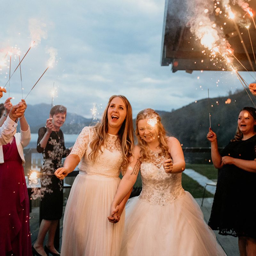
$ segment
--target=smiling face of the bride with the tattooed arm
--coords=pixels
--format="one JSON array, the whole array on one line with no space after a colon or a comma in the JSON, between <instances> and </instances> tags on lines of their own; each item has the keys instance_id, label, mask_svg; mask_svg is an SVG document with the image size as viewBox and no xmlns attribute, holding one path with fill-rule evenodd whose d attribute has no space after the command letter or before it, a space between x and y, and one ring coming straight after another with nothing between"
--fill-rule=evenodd
<instances>
[{"instance_id":1,"label":"smiling face of the bride with the tattooed arm","mask_svg":"<svg viewBox=\"0 0 256 256\"><path fill-rule=\"evenodd\" d=\"M153 126L153 122L151 121L152 119L141 119L138 122L138 131L140 138L142 138L142 140L147 143L154 143L158 141L157 134L159 132L159 129L157 127L157 124Z\"/></svg>"}]
</instances>

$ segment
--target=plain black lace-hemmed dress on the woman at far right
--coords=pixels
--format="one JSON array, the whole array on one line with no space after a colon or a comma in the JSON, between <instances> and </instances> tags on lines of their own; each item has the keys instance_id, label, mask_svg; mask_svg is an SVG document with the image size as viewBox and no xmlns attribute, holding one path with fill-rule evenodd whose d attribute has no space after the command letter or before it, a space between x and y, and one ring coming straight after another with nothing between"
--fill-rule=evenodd
<instances>
[{"instance_id":1,"label":"plain black lace-hemmed dress on the woman at far right","mask_svg":"<svg viewBox=\"0 0 256 256\"><path fill-rule=\"evenodd\" d=\"M244 160L256 158L256 135L230 142L221 156ZM256 238L256 173L233 164L224 165L218 176L209 226L221 235Z\"/></svg>"}]
</instances>

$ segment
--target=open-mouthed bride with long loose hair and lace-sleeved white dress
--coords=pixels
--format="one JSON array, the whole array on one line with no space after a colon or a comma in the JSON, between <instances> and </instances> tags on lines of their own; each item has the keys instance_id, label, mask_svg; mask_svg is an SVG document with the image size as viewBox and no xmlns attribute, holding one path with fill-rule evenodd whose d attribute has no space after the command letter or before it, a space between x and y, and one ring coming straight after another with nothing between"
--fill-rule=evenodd
<instances>
[{"instance_id":1,"label":"open-mouthed bride with long loose hair and lace-sleeved white dress","mask_svg":"<svg viewBox=\"0 0 256 256\"><path fill-rule=\"evenodd\" d=\"M80 162L65 209L61 255L119 255L124 217L113 224L107 216L120 182L121 166L127 166L132 147L131 105L124 96L114 95L102 122L84 127L64 167L55 172L62 180ZM121 202L123 207L129 196L130 193Z\"/></svg>"}]
</instances>

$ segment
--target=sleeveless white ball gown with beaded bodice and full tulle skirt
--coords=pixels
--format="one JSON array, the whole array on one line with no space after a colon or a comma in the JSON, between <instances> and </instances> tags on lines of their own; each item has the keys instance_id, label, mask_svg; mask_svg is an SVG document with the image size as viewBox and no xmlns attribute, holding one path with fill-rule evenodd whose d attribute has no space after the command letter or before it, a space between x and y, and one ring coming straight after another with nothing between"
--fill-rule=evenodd
<instances>
[{"instance_id":1,"label":"sleeveless white ball gown with beaded bodice and full tulle skirt","mask_svg":"<svg viewBox=\"0 0 256 256\"><path fill-rule=\"evenodd\" d=\"M150 151L140 166L142 191L126 204L121 256L226 255L204 222L195 199L181 186L181 173L167 174L164 157Z\"/></svg>"}]
</instances>

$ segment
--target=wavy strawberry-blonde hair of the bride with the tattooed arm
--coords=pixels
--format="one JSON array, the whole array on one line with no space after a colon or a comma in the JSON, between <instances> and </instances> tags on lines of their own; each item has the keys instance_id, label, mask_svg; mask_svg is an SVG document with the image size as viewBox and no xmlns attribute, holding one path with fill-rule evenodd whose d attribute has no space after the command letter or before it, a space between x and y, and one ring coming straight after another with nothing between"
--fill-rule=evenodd
<instances>
[{"instance_id":1,"label":"wavy strawberry-blonde hair of the bride with the tattooed arm","mask_svg":"<svg viewBox=\"0 0 256 256\"><path fill-rule=\"evenodd\" d=\"M166 137L166 131L164 129L163 124L161 123L161 117L158 113L156 113L155 110L151 108L145 108L144 110L141 110L136 118L136 137L138 139L138 146L140 147L140 160L147 160L150 158L148 153L148 144L140 137L139 129L138 129L138 122L143 119L153 119L155 120L155 125L158 128L158 134L156 136L159 140L159 147L162 148L162 153L160 155L164 155L166 158L170 157L170 153L168 151L168 145L167 145L167 137Z\"/></svg>"}]
</instances>

